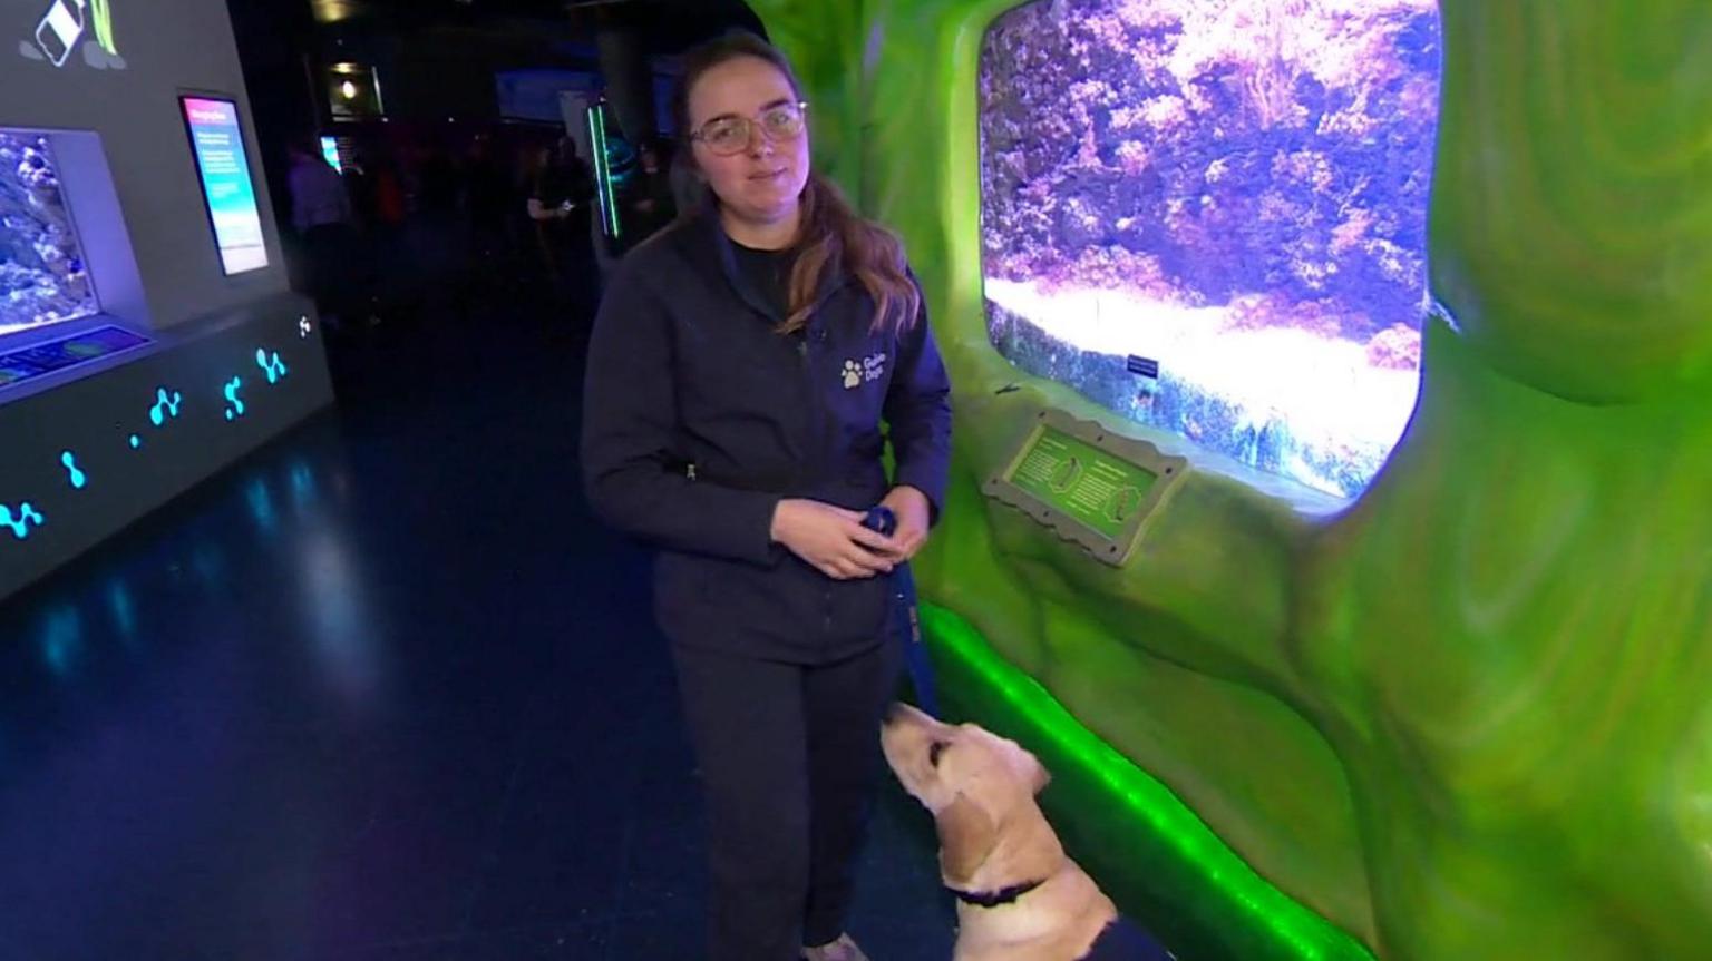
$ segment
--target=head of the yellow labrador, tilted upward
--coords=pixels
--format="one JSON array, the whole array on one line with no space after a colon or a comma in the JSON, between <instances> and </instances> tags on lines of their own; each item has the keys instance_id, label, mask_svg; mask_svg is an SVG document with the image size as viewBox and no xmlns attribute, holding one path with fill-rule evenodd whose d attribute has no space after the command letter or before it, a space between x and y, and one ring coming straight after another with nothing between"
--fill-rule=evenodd
<instances>
[{"instance_id":1,"label":"head of the yellow labrador, tilted upward","mask_svg":"<svg viewBox=\"0 0 1712 961\"><path fill-rule=\"evenodd\" d=\"M1056 870L1063 848L1034 804L1051 776L1034 754L907 705L892 706L880 742L904 790L933 812L947 884L990 889Z\"/></svg>"}]
</instances>

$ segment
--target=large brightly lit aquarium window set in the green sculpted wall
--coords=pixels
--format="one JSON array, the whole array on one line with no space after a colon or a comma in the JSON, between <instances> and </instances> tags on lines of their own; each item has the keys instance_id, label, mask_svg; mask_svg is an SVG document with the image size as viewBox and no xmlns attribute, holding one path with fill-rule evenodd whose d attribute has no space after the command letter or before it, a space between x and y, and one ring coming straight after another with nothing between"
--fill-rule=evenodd
<instances>
[{"instance_id":1,"label":"large brightly lit aquarium window set in the green sculpted wall","mask_svg":"<svg viewBox=\"0 0 1712 961\"><path fill-rule=\"evenodd\" d=\"M1436 0L1037 0L981 50L1019 368L1359 494L1419 386Z\"/></svg>"}]
</instances>

